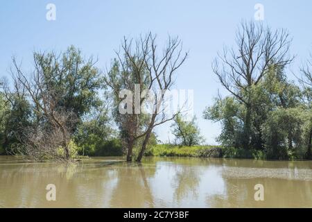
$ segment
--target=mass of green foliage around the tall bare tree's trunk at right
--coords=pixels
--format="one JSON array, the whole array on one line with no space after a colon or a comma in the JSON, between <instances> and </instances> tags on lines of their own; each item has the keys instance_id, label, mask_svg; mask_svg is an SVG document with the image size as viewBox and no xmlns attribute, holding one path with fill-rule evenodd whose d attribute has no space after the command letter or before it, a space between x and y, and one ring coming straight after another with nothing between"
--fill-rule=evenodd
<instances>
[{"instance_id":1,"label":"mass of green foliage around the tall bare tree's trunk at right","mask_svg":"<svg viewBox=\"0 0 312 222\"><path fill-rule=\"evenodd\" d=\"M222 125L217 140L227 147L225 157L302 158L311 136L311 109L301 102L300 88L287 80L281 67L274 65L257 85L249 87L248 94L240 92L251 104L249 107L236 97L227 96L216 99L204 112L205 119ZM244 146L246 138L248 148Z\"/></svg>"}]
</instances>

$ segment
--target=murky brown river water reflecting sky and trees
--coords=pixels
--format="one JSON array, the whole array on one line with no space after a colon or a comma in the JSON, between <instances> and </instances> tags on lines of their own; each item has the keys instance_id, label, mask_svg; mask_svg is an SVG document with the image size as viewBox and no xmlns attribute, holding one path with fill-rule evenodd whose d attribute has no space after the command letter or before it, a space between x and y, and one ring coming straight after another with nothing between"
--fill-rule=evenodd
<instances>
[{"instance_id":1,"label":"murky brown river water reflecting sky and trees","mask_svg":"<svg viewBox=\"0 0 312 222\"><path fill-rule=\"evenodd\" d=\"M47 185L55 185L55 201L46 199ZM254 198L256 185L263 200ZM60 164L0 156L0 207L312 207L312 162L97 157Z\"/></svg>"}]
</instances>

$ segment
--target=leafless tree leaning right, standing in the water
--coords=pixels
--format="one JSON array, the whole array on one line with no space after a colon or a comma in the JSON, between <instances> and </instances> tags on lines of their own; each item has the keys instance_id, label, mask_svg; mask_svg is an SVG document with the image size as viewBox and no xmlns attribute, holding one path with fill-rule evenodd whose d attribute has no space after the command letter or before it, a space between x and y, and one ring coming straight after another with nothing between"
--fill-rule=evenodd
<instances>
[{"instance_id":1,"label":"leafless tree leaning right, standing in the water","mask_svg":"<svg viewBox=\"0 0 312 222\"><path fill-rule=\"evenodd\" d=\"M156 35L149 35L148 38L150 56L146 57L145 64L148 69L148 74L150 76L150 87L152 89L150 92L153 92L153 97L155 98L155 103L152 107L152 114L150 121L146 129L146 135L144 137L141 150L137 157L137 162L141 162L141 159L146 151L146 146L150 135L153 132L155 126L159 126L167 121L171 121L177 117L177 114L180 114L181 110L173 114L166 114L166 107L162 105L166 103L166 92L171 89L175 80L175 73L182 64L187 60L188 53L183 53L182 42L178 37L171 38L169 37L167 45L162 50L162 54L159 56L157 51ZM159 94L160 92L160 94ZM180 104L181 108L185 104Z\"/></svg>"}]
</instances>

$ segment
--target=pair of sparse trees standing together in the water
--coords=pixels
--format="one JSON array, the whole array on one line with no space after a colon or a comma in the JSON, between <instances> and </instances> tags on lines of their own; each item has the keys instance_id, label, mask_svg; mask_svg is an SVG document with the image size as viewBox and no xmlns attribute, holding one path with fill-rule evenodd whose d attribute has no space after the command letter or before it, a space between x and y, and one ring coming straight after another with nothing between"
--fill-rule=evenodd
<instances>
[{"instance_id":1,"label":"pair of sparse trees standing together in the water","mask_svg":"<svg viewBox=\"0 0 312 222\"><path fill-rule=\"evenodd\" d=\"M164 113L165 93L174 83L176 70L187 59L187 53L182 53L182 42L176 37L169 37L168 44L164 48L162 56L159 58L156 44L156 36L148 33L137 40L127 40L124 38L121 44L121 51L116 52L118 64L111 67L105 75L105 83L112 89L115 105L122 99L119 92L122 89L129 89L135 92L135 85L139 85L140 98L132 98L132 113L117 114L121 124L121 131L125 134L125 141L128 144L127 160L132 160L132 148L137 139L144 137L141 150L137 157L140 162L144 155L148 140L155 126L170 121L177 113L168 117ZM148 91L148 94L144 94ZM151 95L152 94L152 95ZM150 104L149 114L141 113L141 104L147 100L148 96L153 96L153 103Z\"/></svg>"}]
</instances>

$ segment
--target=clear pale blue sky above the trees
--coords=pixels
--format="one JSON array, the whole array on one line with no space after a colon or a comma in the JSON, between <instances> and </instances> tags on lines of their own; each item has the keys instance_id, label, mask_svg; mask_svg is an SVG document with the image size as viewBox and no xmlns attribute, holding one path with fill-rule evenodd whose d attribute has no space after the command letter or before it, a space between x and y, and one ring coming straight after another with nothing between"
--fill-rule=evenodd
<instances>
[{"instance_id":1,"label":"clear pale blue sky above the trees","mask_svg":"<svg viewBox=\"0 0 312 222\"><path fill-rule=\"evenodd\" d=\"M46 20L48 3L56 6L56 21ZM175 87L194 89L198 124L207 143L216 144L220 126L202 119L202 111L221 88L212 74L211 61L223 45L234 44L236 26L242 19L253 19L256 3L264 6L266 24L291 33L291 53L297 55L291 69L297 71L312 51L309 0L10 0L0 3L0 76L8 75L12 56L23 60L25 69L30 70L34 50L61 51L73 44L85 56L98 56L98 67L104 68L110 65L124 35L135 37L152 31L161 40L168 34L179 35L190 56ZM168 128L158 128L157 134L165 141Z\"/></svg>"}]
</instances>

